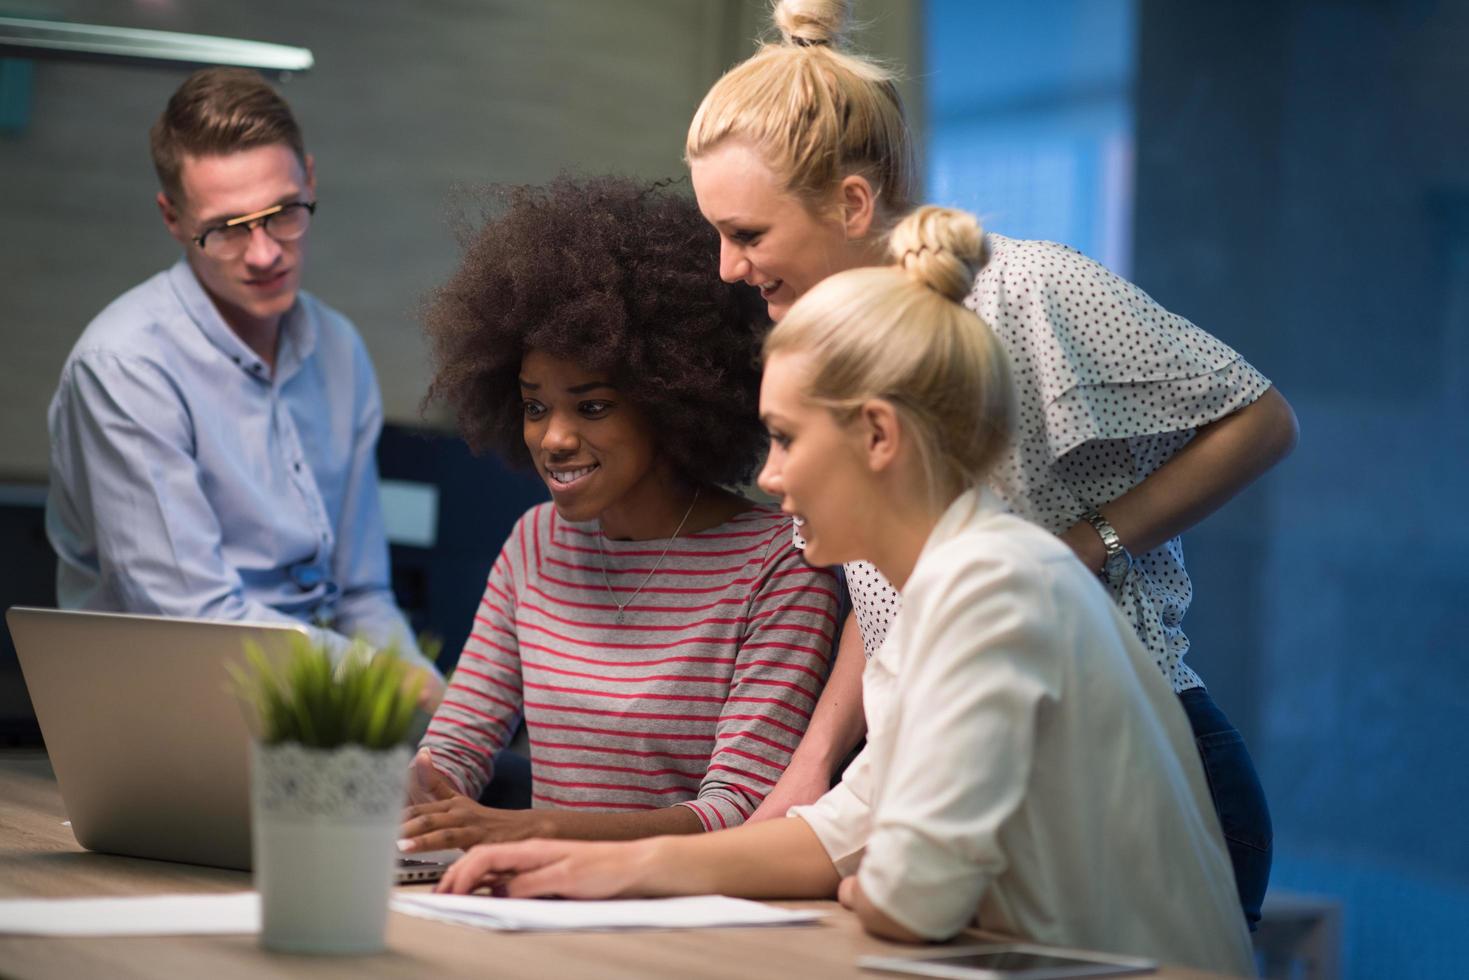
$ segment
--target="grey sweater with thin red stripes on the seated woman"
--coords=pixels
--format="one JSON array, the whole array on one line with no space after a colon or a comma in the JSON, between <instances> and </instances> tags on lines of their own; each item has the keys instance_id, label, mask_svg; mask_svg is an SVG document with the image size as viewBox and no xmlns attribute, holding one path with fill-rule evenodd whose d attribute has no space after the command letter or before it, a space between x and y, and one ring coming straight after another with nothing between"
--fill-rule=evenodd
<instances>
[{"instance_id":1,"label":"grey sweater with thin red stripes on the seated woman","mask_svg":"<svg viewBox=\"0 0 1469 980\"><path fill-rule=\"evenodd\" d=\"M536 807L683 804L705 830L743 823L826 682L836 579L770 507L674 539L657 564L665 547L605 539L551 504L527 511L425 738L435 765L477 796L523 708ZM604 560L632 599L621 624Z\"/></svg>"}]
</instances>

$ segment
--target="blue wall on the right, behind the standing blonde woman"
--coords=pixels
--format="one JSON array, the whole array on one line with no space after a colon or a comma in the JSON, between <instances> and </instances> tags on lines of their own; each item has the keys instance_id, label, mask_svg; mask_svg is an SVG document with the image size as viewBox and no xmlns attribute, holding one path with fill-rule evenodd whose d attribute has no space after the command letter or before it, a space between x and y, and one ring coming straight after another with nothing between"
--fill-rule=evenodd
<instances>
[{"instance_id":1,"label":"blue wall on the right, behind the standing blonde woman","mask_svg":"<svg viewBox=\"0 0 1469 980\"><path fill-rule=\"evenodd\" d=\"M1272 884L1343 902L1346 976L1469 976L1469 3L928 18L933 195L1012 232L1006 147L1111 113L1136 147L1114 267L1296 407L1294 455L1185 535L1190 661L1260 767ZM1096 254L1099 204L1066 200L1053 237Z\"/></svg>"}]
</instances>

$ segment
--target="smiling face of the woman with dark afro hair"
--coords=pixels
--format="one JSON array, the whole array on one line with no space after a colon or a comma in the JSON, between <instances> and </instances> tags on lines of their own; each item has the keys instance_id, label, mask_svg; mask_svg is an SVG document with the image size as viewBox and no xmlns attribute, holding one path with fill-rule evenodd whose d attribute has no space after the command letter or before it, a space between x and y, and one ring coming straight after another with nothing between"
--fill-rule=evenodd
<instances>
[{"instance_id":1,"label":"smiling face of the woman with dark afro hair","mask_svg":"<svg viewBox=\"0 0 1469 980\"><path fill-rule=\"evenodd\" d=\"M655 536L679 497L652 430L611 379L530 351L520 363L521 429L536 472L566 520L601 520L614 538ZM687 502L687 498L683 498ZM663 533L668 533L663 527Z\"/></svg>"}]
</instances>

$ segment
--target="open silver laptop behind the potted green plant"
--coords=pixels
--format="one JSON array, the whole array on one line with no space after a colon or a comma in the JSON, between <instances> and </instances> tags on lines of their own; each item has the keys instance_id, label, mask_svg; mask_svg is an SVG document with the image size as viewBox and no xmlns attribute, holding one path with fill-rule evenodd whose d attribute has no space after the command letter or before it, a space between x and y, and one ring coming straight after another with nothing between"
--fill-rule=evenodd
<instances>
[{"instance_id":1,"label":"open silver laptop behind the potted green plant","mask_svg":"<svg viewBox=\"0 0 1469 980\"><path fill-rule=\"evenodd\" d=\"M6 621L76 842L250 870L250 730L225 664L245 641L282 655L306 627L24 607ZM398 880L454 857L414 855Z\"/></svg>"}]
</instances>

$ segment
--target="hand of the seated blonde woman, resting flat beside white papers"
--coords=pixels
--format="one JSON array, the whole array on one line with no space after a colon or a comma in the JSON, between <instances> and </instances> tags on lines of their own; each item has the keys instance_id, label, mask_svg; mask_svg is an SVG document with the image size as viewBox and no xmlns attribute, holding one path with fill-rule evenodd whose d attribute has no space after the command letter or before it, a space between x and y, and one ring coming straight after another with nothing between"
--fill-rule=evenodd
<instances>
[{"instance_id":1,"label":"hand of the seated blonde woman, resting flat beside white papers","mask_svg":"<svg viewBox=\"0 0 1469 980\"><path fill-rule=\"evenodd\" d=\"M638 895L654 840L523 840L470 849L455 861L436 892L469 895L489 889L508 898L616 898Z\"/></svg>"}]
</instances>

